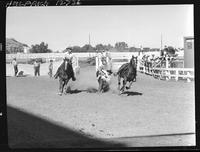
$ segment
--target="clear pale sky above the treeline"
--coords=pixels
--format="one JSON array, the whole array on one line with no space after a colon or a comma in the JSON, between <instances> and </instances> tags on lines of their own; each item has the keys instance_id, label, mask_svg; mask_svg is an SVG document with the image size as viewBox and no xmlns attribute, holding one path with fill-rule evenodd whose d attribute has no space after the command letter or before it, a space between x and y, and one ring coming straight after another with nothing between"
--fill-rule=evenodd
<instances>
[{"instance_id":1,"label":"clear pale sky above the treeline","mask_svg":"<svg viewBox=\"0 0 200 152\"><path fill-rule=\"evenodd\" d=\"M8 7L6 38L53 51L89 43L126 42L129 47L183 48L194 35L193 5Z\"/></svg>"}]
</instances>

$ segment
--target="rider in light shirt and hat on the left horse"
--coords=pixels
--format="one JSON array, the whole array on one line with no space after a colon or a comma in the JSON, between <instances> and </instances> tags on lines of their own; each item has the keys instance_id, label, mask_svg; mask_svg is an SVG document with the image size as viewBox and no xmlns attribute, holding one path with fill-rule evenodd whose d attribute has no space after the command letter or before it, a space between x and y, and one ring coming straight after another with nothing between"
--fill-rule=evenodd
<instances>
[{"instance_id":1,"label":"rider in light shirt and hat on the left horse","mask_svg":"<svg viewBox=\"0 0 200 152\"><path fill-rule=\"evenodd\" d=\"M66 52L65 52L65 57L64 60L65 62L65 70L67 69L67 64L68 62L71 62L71 64L69 64L69 67L72 68L72 81L76 81L75 78L75 73L74 73L74 69L73 69L73 61L74 61L74 54L72 54L72 49L71 48L66 48Z\"/></svg>"}]
</instances>

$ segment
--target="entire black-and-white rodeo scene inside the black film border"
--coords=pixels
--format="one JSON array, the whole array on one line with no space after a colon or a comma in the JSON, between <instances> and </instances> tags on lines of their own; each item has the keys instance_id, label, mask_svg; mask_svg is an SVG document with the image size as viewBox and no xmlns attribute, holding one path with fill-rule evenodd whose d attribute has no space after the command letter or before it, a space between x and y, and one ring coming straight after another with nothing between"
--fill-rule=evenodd
<instances>
[{"instance_id":1,"label":"entire black-and-white rodeo scene inside the black film border","mask_svg":"<svg viewBox=\"0 0 200 152\"><path fill-rule=\"evenodd\" d=\"M194 5L6 9L8 145L196 146Z\"/></svg>"}]
</instances>

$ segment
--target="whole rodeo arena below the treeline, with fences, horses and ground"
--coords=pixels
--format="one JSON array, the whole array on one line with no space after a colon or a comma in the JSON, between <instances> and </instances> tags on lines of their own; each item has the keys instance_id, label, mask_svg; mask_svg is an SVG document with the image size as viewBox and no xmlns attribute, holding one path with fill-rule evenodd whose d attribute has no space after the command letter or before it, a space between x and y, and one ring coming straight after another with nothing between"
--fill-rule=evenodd
<instances>
[{"instance_id":1,"label":"whole rodeo arena below the treeline, with fences, horses and ground","mask_svg":"<svg viewBox=\"0 0 200 152\"><path fill-rule=\"evenodd\" d=\"M10 147L194 146L193 37L183 48L6 54Z\"/></svg>"}]
</instances>

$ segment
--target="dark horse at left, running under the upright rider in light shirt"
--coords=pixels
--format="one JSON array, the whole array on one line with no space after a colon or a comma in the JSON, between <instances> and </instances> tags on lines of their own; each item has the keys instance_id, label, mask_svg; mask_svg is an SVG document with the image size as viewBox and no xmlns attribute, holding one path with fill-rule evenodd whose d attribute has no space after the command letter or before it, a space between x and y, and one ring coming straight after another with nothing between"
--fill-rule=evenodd
<instances>
[{"instance_id":1,"label":"dark horse at left, running under the upright rider in light shirt","mask_svg":"<svg viewBox=\"0 0 200 152\"><path fill-rule=\"evenodd\" d=\"M66 62L67 66L65 67ZM73 68L72 68L72 62L70 60L64 59L64 62L60 65L60 67L57 69L56 74L54 75L55 79L57 79L58 77L59 77L59 95L62 95L65 85L67 85L69 80L73 78Z\"/></svg>"}]
</instances>

